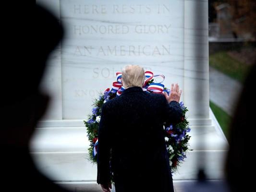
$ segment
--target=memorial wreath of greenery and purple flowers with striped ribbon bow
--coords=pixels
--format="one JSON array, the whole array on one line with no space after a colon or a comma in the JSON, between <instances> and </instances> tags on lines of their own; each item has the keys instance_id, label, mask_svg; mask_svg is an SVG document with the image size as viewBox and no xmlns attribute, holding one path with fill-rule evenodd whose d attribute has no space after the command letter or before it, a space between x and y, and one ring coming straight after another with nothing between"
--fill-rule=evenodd
<instances>
[{"instance_id":1,"label":"memorial wreath of greenery and purple flowers with striped ribbon bow","mask_svg":"<svg viewBox=\"0 0 256 192\"><path fill-rule=\"evenodd\" d=\"M107 88L104 93L99 93L98 98L93 101L92 113L87 115L87 120L84 120L84 124L87 130L87 137L90 141L88 148L88 159L91 163L97 164L97 145L98 145L98 126L101 116L102 105L108 100L120 96L124 88L121 84L122 73L117 72L117 81L112 84L112 88ZM150 93L163 92L170 93L170 89L166 88L162 82L164 80L164 75L153 75L152 72L145 72L145 83L143 85L143 90ZM156 78L161 78L160 83L156 83ZM190 132L189 122L186 117L186 112L188 109L184 106L183 102L180 102L180 106L183 111L182 122L178 124L172 124L169 127L163 127L165 130L165 142L169 154L169 162L171 166L171 173L178 172L178 168L183 163L184 159L187 158L186 153L192 151L190 149L189 140Z\"/></svg>"}]
</instances>

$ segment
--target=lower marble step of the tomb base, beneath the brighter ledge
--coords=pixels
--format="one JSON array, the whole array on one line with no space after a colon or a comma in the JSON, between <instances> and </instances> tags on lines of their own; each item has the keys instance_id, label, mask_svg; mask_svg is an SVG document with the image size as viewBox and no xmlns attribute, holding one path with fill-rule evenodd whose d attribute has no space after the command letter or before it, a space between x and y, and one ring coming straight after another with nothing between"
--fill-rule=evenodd
<instances>
[{"instance_id":1,"label":"lower marble step of the tomb base, beneath the brighter ledge","mask_svg":"<svg viewBox=\"0 0 256 192\"><path fill-rule=\"evenodd\" d=\"M97 166L86 159L85 152L32 153L37 168L53 181L96 181ZM224 178L226 151L191 151L173 174L173 180L196 180L199 166L205 168L207 179Z\"/></svg>"}]
</instances>

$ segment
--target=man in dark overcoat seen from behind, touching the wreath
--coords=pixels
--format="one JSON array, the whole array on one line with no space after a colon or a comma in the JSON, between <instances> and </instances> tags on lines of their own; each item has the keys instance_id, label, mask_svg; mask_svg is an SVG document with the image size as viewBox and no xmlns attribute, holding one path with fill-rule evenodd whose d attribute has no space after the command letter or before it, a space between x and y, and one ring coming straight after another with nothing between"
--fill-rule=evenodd
<instances>
[{"instance_id":1,"label":"man in dark overcoat seen from behind, touching the wreath","mask_svg":"<svg viewBox=\"0 0 256 192\"><path fill-rule=\"evenodd\" d=\"M102 106L97 182L110 192L113 172L116 192L174 192L164 123L182 121L182 90L172 84L169 95L144 91L138 65L125 66L121 81L122 94Z\"/></svg>"}]
</instances>

